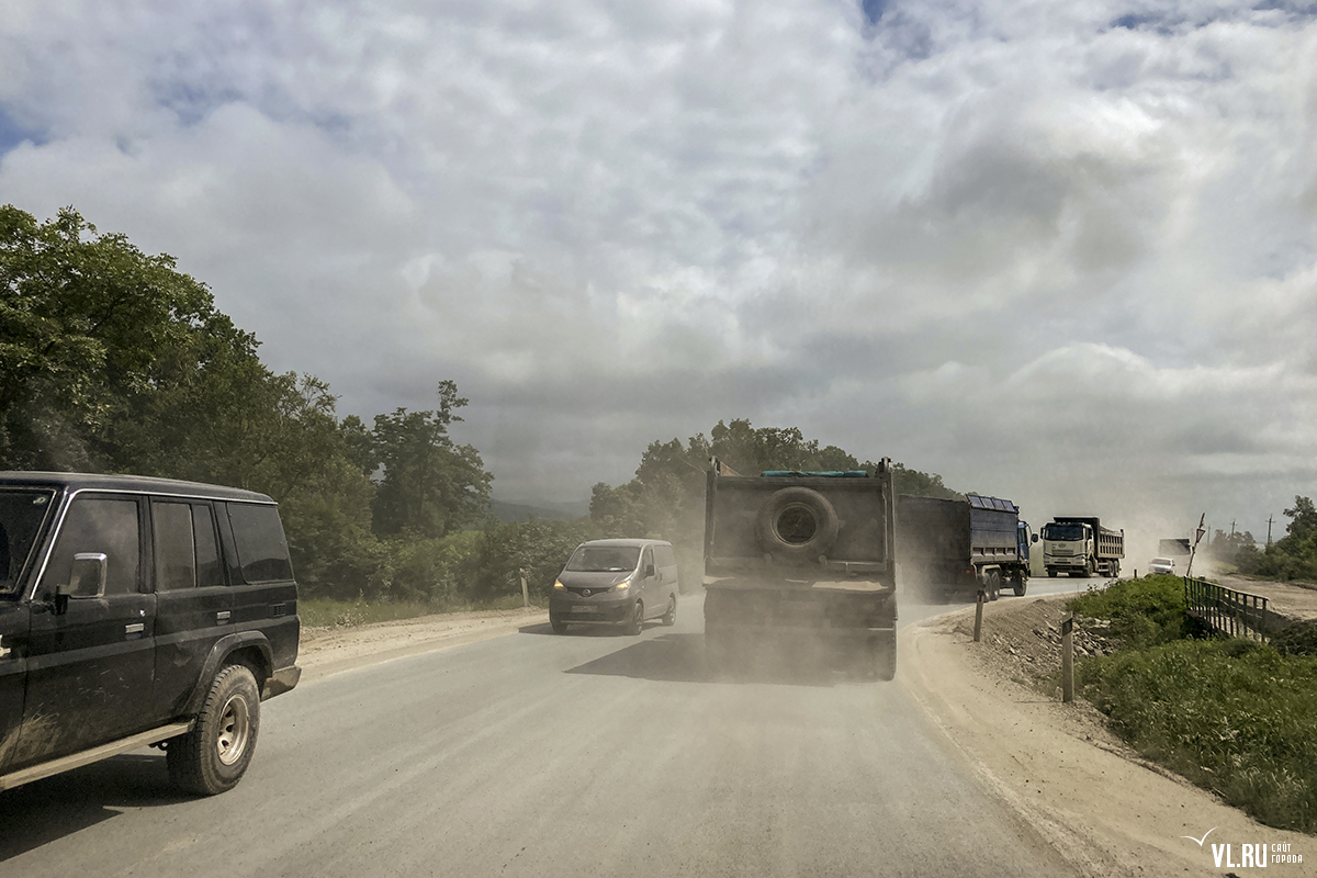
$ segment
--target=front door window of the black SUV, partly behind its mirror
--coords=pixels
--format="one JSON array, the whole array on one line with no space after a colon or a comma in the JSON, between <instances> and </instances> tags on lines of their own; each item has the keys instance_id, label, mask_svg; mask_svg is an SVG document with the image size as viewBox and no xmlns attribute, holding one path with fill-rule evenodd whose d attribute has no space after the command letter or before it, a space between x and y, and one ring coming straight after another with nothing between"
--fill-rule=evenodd
<instances>
[{"instance_id":1,"label":"front door window of the black SUV, partly behind its mirror","mask_svg":"<svg viewBox=\"0 0 1317 878\"><path fill-rule=\"evenodd\" d=\"M55 586L68 584L74 555L80 552L105 553L107 595L137 592L141 565L137 500L74 498L46 566L43 583L47 588L54 591Z\"/></svg>"}]
</instances>

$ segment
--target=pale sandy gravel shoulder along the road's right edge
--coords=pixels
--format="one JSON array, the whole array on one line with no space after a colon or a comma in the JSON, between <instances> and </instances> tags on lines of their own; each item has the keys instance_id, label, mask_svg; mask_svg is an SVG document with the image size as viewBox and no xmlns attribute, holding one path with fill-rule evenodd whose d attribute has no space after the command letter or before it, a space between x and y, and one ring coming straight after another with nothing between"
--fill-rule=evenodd
<instances>
[{"instance_id":1,"label":"pale sandy gravel shoulder along the road's right edge","mask_svg":"<svg viewBox=\"0 0 1317 878\"><path fill-rule=\"evenodd\" d=\"M1050 631L1067 596L1004 599L984 613L975 644L973 608L909 625L900 636L897 681L985 783L1081 874L1222 874L1210 842L1291 844L1312 874L1310 836L1263 827L1139 758L1090 704L1062 704L1033 684L1059 671ZM1040 632L1040 633L1039 633ZM1098 638L1097 645L1101 645ZM1209 844L1195 841L1213 829ZM1195 840L1181 836L1192 836Z\"/></svg>"}]
</instances>

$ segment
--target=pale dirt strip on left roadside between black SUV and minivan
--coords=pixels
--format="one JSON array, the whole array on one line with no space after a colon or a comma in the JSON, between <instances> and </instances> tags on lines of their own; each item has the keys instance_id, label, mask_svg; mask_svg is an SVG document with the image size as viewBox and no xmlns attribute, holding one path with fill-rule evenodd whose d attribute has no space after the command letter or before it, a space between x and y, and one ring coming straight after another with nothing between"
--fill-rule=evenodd
<instances>
[{"instance_id":1,"label":"pale dirt strip on left roadside between black SUV and minivan","mask_svg":"<svg viewBox=\"0 0 1317 878\"><path fill-rule=\"evenodd\" d=\"M312 683L354 667L450 649L548 621L548 611L532 607L421 616L350 628L303 628L298 665L302 666L302 682Z\"/></svg>"}]
</instances>

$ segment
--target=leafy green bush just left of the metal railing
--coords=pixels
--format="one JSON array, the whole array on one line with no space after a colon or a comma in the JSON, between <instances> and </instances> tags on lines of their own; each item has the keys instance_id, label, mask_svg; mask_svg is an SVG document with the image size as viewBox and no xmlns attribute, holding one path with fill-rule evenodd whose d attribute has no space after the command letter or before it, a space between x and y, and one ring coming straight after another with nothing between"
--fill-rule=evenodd
<instances>
[{"instance_id":1,"label":"leafy green bush just left of the metal railing","mask_svg":"<svg viewBox=\"0 0 1317 878\"><path fill-rule=\"evenodd\" d=\"M1184 581L1179 577L1122 579L1069 602L1084 616L1109 619L1110 636L1129 649L1180 640L1192 628L1185 616Z\"/></svg>"}]
</instances>

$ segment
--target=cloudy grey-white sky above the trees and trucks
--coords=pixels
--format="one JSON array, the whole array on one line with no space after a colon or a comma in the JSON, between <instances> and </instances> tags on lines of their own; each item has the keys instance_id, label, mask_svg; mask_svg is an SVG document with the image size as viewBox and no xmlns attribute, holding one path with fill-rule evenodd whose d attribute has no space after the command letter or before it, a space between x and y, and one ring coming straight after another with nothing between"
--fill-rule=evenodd
<instances>
[{"instance_id":1,"label":"cloudy grey-white sky above the trees and trucks","mask_svg":"<svg viewBox=\"0 0 1317 878\"><path fill-rule=\"evenodd\" d=\"M745 417L1279 536L1314 134L1303 3L0 4L0 203L173 254L340 415L456 380L516 502Z\"/></svg>"}]
</instances>

